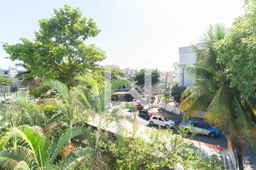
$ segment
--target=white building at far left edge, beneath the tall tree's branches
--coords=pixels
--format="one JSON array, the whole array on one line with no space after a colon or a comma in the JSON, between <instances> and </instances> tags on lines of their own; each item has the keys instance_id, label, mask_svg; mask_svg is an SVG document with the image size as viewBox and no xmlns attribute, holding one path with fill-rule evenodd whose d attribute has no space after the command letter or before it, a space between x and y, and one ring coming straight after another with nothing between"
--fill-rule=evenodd
<instances>
[{"instance_id":1,"label":"white building at far left edge, beneath the tall tree's branches","mask_svg":"<svg viewBox=\"0 0 256 170\"><path fill-rule=\"evenodd\" d=\"M9 90L11 92L18 91L20 87L22 87L23 77L17 78L16 75L19 73L23 73L25 70L18 70L14 67L9 67L9 69L0 69L0 75L6 76L6 78L9 78L12 82L10 84ZM3 89L5 91L8 91L8 87L4 86Z\"/></svg>"}]
</instances>

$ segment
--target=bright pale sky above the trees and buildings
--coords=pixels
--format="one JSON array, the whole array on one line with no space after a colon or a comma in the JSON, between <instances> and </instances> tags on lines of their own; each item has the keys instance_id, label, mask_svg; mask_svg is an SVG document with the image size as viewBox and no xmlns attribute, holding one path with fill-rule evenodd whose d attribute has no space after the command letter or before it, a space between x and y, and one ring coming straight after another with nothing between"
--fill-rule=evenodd
<instances>
[{"instance_id":1,"label":"bright pale sky above the trees and buildings","mask_svg":"<svg viewBox=\"0 0 256 170\"><path fill-rule=\"evenodd\" d=\"M200 42L210 24L230 27L243 14L243 0L84 0L0 1L0 42L19 43L20 37L34 39L38 20L50 18L53 8L79 7L101 29L86 44L96 44L108 56L102 65L121 68L171 69L179 62L179 47ZM0 47L0 67L19 61L6 59Z\"/></svg>"}]
</instances>

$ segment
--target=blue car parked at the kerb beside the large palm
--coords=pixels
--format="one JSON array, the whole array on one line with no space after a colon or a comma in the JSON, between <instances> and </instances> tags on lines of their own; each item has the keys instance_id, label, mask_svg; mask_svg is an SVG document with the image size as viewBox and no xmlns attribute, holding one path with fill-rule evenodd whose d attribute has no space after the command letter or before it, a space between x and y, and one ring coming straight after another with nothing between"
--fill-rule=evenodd
<instances>
[{"instance_id":1,"label":"blue car parked at the kerb beside the large palm","mask_svg":"<svg viewBox=\"0 0 256 170\"><path fill-rule=\"evenodd\" d=\"M183 125L184 128L188 129L191 133L209 135L212 138L221 136L220 130L214 128L213 126L205 124L205 122L190 120L187 123L183 123L181 125Z\"/></svg>"}]
</instances>

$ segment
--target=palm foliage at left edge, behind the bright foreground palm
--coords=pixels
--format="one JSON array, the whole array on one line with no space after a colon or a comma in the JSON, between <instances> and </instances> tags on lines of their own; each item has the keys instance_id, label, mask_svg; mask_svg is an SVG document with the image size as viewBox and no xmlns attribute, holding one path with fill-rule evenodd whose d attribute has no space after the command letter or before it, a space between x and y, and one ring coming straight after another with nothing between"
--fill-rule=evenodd
<instances>
[{"instance_id":1,"label":"palm foliage at left edge, behind the bright foreground palm","mask_svg":"<svg viewBox=\"0 0 256 170\"><path fill-rule=\"evenodd\" d=\"M51 137L57 126L63 125L56 122L61 114L53 115L47 119L42 109L30 99L28 91L16 92L15 99L2 109L2 126L17 127L19 125L38 126L42 128L47 137ZM54 130L53 130L54 129Z\"/></svg>"}]
</instances>

